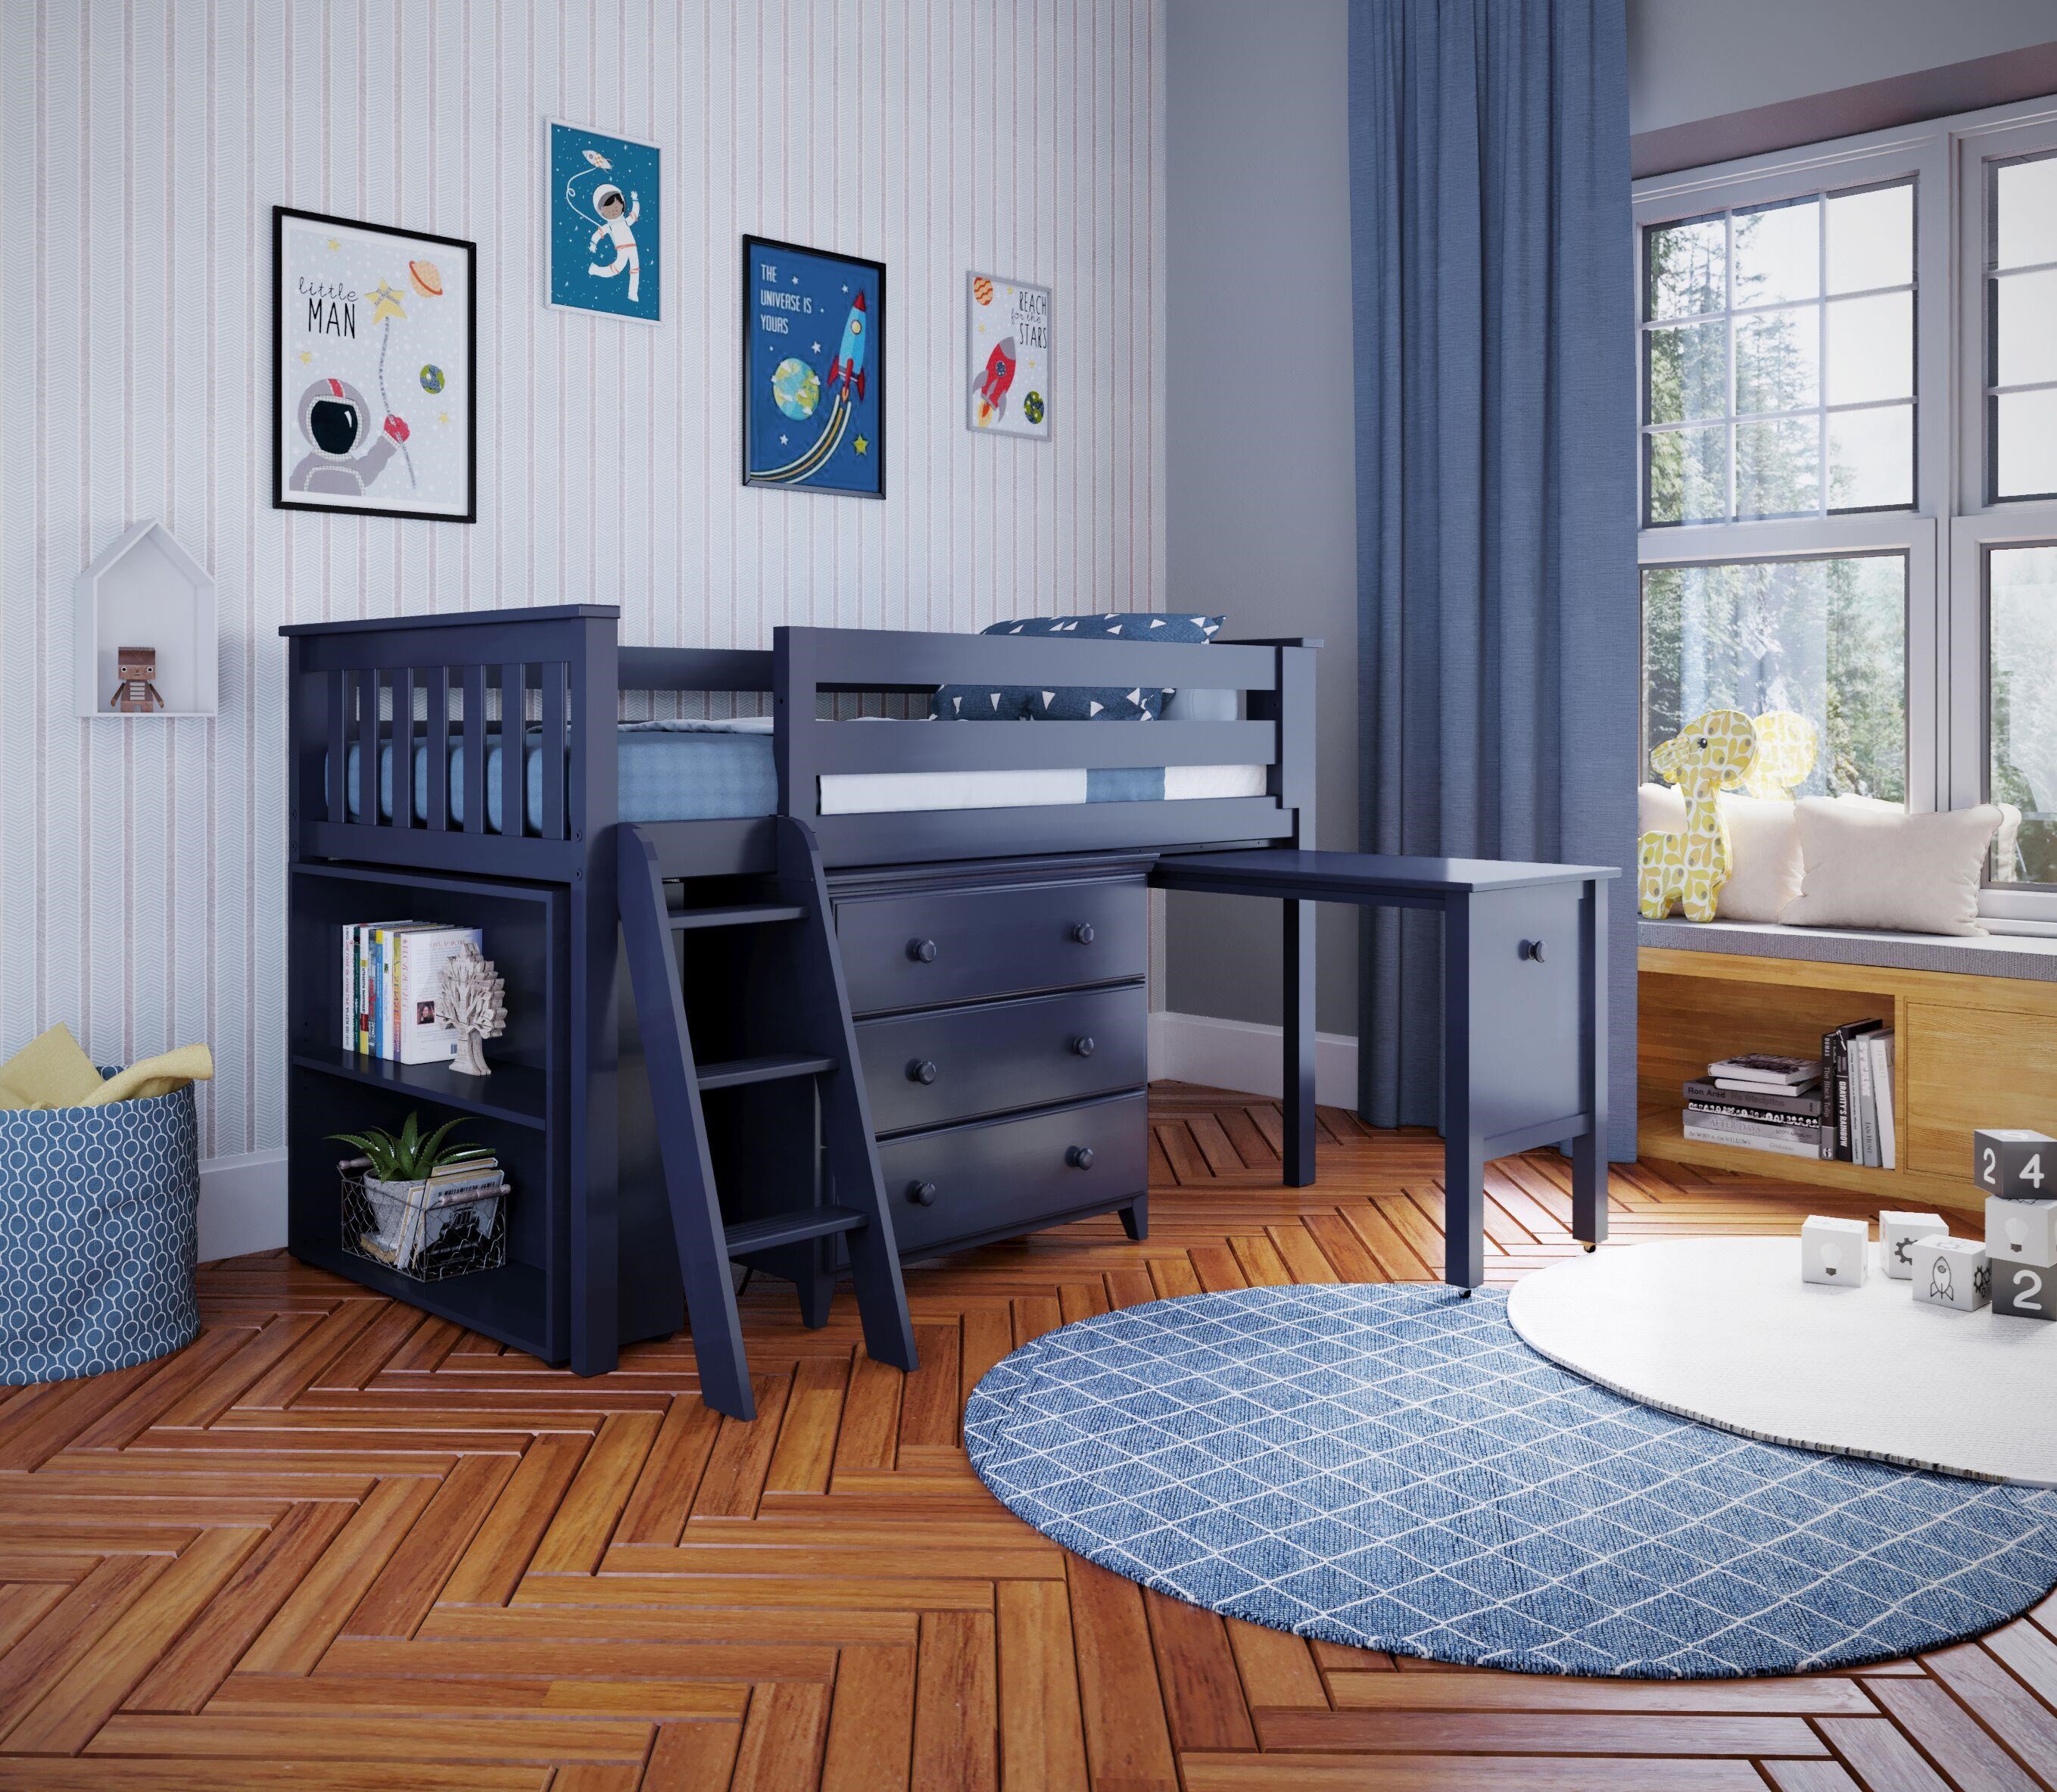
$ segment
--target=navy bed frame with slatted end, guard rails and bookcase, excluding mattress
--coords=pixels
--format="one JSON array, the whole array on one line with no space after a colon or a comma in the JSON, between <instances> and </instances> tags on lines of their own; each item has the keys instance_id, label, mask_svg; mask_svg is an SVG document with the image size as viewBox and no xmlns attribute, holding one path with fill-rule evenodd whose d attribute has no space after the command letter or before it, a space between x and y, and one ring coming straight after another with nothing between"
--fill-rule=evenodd
<instances>
[{"instance_id":1,"label":"navy bed frame with slatted end, guard rails and bookcase, excluding mattress","mask_svg":"<svg viewBox=\"0 0 2057 1792\"><path fill-rule=\"evenodd\" d=\"M679 1325L679 1278L658 1234L627 1216L621 1160L640 1158L621 1103L625 1027L617 907L621 691L769 693L778 811L837 874L878 881L1008 860L1022 868L1148 862L1224 846L1312 846L1314 654L1275 640L1154 646L1121 640L773 630L765 650L625 648L619 609L566 605L296 623L288 638L288 1160L294 1255L551 1362L592 1374L625 1339ZM946 683L1236 689L1247 720L850 724L845 693L926 697ZM502 716L541 743L541 800L522 831L488 825L488 749ZM450 747L461 745L459 788ZM346 790L356 749L356 784ZM426 749L426 815L405 800ZM395 800L381 813L381 751ZM522 817L527 751L500 753L502 817ZM551 776L562 759L564 778ZM823 774L1033 767L1265 765L1265 796L1172 802L823 815ZM358 800L352 802L352 796ZM453 821L461 813L463 821ZM664 879L757 879L775 819L638 823ZM409 909L485 916L508 977L510 1031L485 1082L442 1066L360 1058L339 1043L337 928ZM442 916L434 916L442 918ZM504 1269L418 1284L341 1253L329 1134L393 1123L416 1101L496 1123L516 1158ZM619 1115L619 1121L617 1121ZM533 1199L547 1193L547 1199ZM636 1204L629 1204L636 1206ZM669 1222L664 1222L669 1226ZM662 1243L669 1230L660 1228Z\"/></svg>"}]
</instances>

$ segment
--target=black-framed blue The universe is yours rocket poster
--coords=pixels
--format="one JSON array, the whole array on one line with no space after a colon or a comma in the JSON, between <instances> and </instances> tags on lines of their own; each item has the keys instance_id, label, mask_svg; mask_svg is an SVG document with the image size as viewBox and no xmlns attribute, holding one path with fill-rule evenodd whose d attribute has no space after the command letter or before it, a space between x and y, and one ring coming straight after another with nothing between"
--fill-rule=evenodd
<instances>
[{"instance_id":1,"label":"black-framed blue The universe is yours rocket poster","mask_svg":"<svg viewBox=\"0 0 2057 1792\"><path fill-rule=\"evenodd\" d=\"M743 483L887 496L887 270L743 239Z\"/></svg>"}]
</instances>

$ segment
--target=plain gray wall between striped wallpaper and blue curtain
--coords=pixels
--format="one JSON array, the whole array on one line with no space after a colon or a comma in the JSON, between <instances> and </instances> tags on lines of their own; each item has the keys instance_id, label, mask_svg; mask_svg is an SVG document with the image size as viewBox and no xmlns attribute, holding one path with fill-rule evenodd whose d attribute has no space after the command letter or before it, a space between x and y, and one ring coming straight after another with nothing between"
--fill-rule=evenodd
<instances>
[{"instance_id":1,"label":"plain gray wall between striped wallpaper and blue curtain","mask_svg":"<svg viewBox=\"0 0 2057 1792\"><path fill-rule=\"evenodd\" d=\"M1166 8L1164 541L1172 609L1321 636L1319 844L1358 837L1343 0ZM1166 899L1164 1002L1279 1018L1271 905ZM1319 1025L1358 1031L1358 940L1321 911Z\"/></svg>"}]
</instances>

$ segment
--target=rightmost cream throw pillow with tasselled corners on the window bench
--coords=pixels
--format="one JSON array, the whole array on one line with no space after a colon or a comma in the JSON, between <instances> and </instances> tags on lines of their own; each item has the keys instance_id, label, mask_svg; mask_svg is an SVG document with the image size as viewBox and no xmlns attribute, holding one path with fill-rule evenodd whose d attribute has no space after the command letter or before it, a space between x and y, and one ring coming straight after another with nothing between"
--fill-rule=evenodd
<instances>
[{"instance_id":1,"label":"rightmost cream throw pillow with tasselled corners on the window bench","mask_svg":"<svg viewBox=\"0 0 2057 1792\"><path fill-rule=\"evenodd\" d=\"M1862 796L1802 796L1800 895L1790 928L1884 928L1899 934L1983 934L1979 874L1999 804L1909 815Z\"/></svg>"}]
</instances>

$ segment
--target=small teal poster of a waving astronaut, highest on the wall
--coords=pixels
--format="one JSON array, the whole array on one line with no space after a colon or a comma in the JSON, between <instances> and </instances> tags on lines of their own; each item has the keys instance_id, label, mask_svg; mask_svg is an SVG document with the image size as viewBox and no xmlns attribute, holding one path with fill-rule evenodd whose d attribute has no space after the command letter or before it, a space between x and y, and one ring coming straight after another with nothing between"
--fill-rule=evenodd
<instances>
[{"instance_id":1,"label":"small teal poster of a waving astronaut, highest on the wall","mask_svg":"<svg viewBox=\"0 0 2057 1792\"><path fill-rule=\"evenodd\" d=\"M543 119L543 302L634 323L662 319L658 148Z\"/></svg>"}]
</instances>

